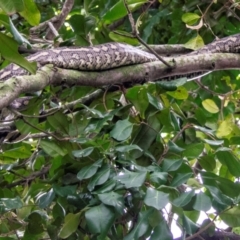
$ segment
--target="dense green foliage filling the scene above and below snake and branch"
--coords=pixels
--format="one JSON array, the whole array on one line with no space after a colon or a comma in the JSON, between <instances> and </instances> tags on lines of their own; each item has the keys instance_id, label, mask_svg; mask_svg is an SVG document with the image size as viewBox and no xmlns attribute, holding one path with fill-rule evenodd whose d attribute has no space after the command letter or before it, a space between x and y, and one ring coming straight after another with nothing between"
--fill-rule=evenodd
<instances>
[{"instance_id":1,"label":"dense green foliage filling the scene above and below snake and branch","mask_svg":"<svg viewBox=\"0 0 240 240\"><path fill-rule=\"evenodd\" d=\"M128 6L148 44L196 48L238 32L240 5L215 2L129 0ZM14 61L35 71L16 42L35 47L30 29L62 5L0 0L2 67ZM137 45L131 31L123 1L75 1L52 44ZM48 86L32 94L11 131L1 132L0 239L169 240L175 220L186 239L214 235L221 221L238 232L238 72L211 73L174 89L162 83L112 89L72 108L69 102L96 89ZM202 212L206 220L197 224Z\"/></svg>"}]
</instances>

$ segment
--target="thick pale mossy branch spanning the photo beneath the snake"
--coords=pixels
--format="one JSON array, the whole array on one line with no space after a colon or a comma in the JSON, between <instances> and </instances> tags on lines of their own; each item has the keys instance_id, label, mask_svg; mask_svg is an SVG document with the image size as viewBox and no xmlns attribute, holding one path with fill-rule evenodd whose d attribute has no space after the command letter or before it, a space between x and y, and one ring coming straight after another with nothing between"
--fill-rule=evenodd
<instances>
[{"instance_id":1,"label":"thick pale mossy branch spanning the photo beneath the snake","mask_svg":"<svg viewBox=\"0 0 240 240\"><path fill-rule=\"evenodd\" d=\"M34 76L18 76L0 83L0 109L7 107L22 93L42 90L49 84L106 86L126 82L143 83L157 81L164 77L185 75L201 71L217 71L239 69L240 55L230 53L214 53L203 55L186 55L176 58L165 58L176 64L176 68L169 69L162 62L150 62L126 66L107 71L87 72L59 69L45 66Z\"/></svg>"}]
</instances>

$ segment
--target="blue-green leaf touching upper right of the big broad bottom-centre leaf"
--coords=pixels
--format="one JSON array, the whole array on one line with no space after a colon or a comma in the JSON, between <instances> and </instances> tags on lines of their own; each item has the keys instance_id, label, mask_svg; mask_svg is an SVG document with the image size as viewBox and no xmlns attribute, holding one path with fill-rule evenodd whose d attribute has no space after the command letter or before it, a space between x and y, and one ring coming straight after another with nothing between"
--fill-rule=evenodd
<instances>
[{"instance_id":1,"label":"blue-green leaf touching upper right of the big broad bottom-centre leaf","mask_svg":"<svg viewBox=\"0 0 240 240\"><path fill-rule=\"evenodd\" d=\"M120 214L123 213L124 199L122 195L115 192L110 192L98 194L98 197L105 205L113 206Z\"/></svg>"}]
</instances>

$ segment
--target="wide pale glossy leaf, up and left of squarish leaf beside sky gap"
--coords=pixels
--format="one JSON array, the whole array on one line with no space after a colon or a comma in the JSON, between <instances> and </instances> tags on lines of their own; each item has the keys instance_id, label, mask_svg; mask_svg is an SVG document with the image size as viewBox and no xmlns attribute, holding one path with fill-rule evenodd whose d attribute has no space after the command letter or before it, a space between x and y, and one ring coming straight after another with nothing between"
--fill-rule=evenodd
<instances>
[{"instance_id":1,"label":"wide pale glossy leaf, up and left of squarish leaf beside sky gap","mask_svg":"<svg viewBox=\"0 0 240 240\"><path fill-rule=\"evenodd\" d=\"M147 172L129 172L125 170L122 175L115 177L119 180L126 188L141 187L146 179Z\"/></svg>"}]
</instances>

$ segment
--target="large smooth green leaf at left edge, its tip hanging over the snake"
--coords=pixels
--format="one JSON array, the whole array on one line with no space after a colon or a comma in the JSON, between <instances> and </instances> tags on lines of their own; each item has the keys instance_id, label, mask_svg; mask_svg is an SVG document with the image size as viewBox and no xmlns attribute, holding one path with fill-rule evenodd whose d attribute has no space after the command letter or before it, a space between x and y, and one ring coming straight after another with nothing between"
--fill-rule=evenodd
<instances>
[{"instance_id":1,"label":"large smooth green leaf at left edge, its tip hanging over the snake","mask_svg":"<svg viewBox=\"0 0 240 240\"><path fill-rule=\"evenodd\" d=\"M10 37L0 32L0 53L10 62L25 68L30 73L35 74L37 69L36 63L28 62L24 57L18 53L17 43Z\"/></svg>"}]
</instances>

